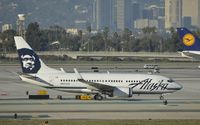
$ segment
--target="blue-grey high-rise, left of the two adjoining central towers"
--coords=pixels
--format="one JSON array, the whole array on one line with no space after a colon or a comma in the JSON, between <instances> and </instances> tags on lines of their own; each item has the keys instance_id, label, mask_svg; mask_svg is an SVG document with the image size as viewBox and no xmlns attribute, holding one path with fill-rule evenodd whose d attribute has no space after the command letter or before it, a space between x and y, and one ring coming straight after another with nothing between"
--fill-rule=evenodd
<instances>
[{"instance_id":1,"label":"blue-grey high-rise, left of the two adjoining central towers","mask_svg":"<svg viewBox=\"0 0 200 125\"><path fill-rule=\"evenodd\" d=\"M95 0L94 1L94 22L97 30L108 27L114 29L114 0Z\"/></svg>"}]
</instances>

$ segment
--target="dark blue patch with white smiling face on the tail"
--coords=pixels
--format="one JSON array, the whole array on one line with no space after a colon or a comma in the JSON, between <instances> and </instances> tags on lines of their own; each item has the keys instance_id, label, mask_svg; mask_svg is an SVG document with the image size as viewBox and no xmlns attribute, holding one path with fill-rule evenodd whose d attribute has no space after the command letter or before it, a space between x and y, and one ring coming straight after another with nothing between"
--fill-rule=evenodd
<instances>
[{"instance_id":1,"label":"dark blue patch with white smiling face on the tail","mask_svg":"<svg viewBox=\"0 0 200 125\"><path fill-rule=\"evenodd\" d=\"M18 53L23 73L37 73L41 64L35 52L24 48L18 50Z\"/></svg>"}]
</instances>

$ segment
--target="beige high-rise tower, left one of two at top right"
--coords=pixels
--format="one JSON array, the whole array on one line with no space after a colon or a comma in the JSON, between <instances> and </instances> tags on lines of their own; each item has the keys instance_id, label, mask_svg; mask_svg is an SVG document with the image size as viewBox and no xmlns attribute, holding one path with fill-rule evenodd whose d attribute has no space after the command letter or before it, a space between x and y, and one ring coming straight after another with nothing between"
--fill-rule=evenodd
<instances>
[{"instance_id":1,"label":"beige high-rise tower, left one of two at top right","mask_svg":"<svg viewBox=\"0 0 200 125\"><path fill-rule=\"evenodd\" d=\"M182 26L182 0L165 0L165 29Z\"/></svg>"}]
</instances>

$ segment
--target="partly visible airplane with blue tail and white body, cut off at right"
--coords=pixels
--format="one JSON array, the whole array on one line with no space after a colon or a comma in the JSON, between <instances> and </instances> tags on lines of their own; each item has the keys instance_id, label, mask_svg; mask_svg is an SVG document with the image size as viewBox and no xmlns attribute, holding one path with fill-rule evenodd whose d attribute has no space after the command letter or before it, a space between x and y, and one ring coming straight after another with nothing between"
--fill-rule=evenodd
<instances>
[{"instance_id":1,"label":"partly visible airplane with blue tail and white body, cut off at right","mask_svg":"<svg viewBox=\"0 0 200 125\"><path fill-rule=\"evenodd\" d=\"M182 56L200 59L200 39L186 28L177 28L179 39L183 43Z\"/></svg>"}]
</instances>

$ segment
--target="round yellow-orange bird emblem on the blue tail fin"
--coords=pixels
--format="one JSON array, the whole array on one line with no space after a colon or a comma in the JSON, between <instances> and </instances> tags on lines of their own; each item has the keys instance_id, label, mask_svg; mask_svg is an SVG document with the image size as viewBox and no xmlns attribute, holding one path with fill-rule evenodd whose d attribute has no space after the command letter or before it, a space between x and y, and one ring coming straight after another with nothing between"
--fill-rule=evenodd
<instances>
[{"instance_id":1,"label":"round yellow-orange bird emblem on the blue tail fin","mask_svg":"<svg viewBox=\"0 0 200 125\"><path fill-rule=\"evenodd\" d=\"M192 46L195 43L195 38L192 34L188 33L183 36L183 43L186 46Z\"/></svg>"}]
</instances>

